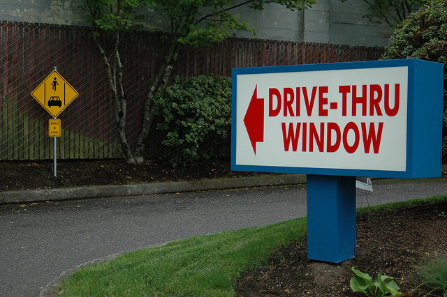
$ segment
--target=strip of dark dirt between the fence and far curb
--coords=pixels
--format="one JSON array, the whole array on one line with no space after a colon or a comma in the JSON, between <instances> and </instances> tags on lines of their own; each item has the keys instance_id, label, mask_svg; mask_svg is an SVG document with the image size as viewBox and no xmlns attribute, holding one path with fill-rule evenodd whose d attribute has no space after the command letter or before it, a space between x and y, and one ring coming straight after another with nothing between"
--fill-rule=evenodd
<instances>
[{"instance_id":1,"label":"strip of dark dirt between the fence and far curb","mask_svg":"<svg viewBox=\"0 0 447 297\"><path fill-rule=\"evenodd\" d=\"M52 160L1 161L0 191L256 176L254 172L232 172L229 160L202 161L188 167L173 167L167 160L147 160L139 166L122 159L59 160L56 168L54 177Z\"/></svg>"}]
</instances>

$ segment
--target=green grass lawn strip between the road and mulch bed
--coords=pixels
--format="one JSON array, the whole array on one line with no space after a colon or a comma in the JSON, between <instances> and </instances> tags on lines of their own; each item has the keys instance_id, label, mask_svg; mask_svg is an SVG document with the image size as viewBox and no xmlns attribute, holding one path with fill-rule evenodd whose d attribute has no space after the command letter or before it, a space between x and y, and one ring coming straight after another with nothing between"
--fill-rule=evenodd
<instances>
[{"instance_id":1,"label":"green grass lawn strip between the road and mulch bed","mask_svg":"<svg viewBox=\"0 0 447 297\"><path fill-rule=\"evenodd\" d=\"M432 197L360 208L395 209L445 201ZM80 269L66 280L61 296L233 296L234 282L247 268L307 232L306 218L219 234L197 236L123 254Z\"/></svg>"}]
</instances>

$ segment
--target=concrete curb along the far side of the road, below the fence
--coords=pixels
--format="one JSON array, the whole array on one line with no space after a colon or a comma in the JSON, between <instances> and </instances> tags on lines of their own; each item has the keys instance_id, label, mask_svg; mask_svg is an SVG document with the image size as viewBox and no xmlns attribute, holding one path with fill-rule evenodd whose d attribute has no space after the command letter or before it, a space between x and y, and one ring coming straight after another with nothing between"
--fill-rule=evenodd
<instances>
[{"instance_id":1,"label":"concrete curb along the far side of the road, below the fence","mask_svg":"<svg viewBox=\"0 0 447 297\"><path fill-rule=\"evenodd\" d=\"M240 178L217 178L198 181L142 183L138 185L98 185L50 190L6 191L0 192L0 205L41 201L154 195L201 190L223 190L230 188L251 188L268 185L292 185L297 183L306 183L306 176L304 174L284 174Z\"/></svg>"}]
</instances>

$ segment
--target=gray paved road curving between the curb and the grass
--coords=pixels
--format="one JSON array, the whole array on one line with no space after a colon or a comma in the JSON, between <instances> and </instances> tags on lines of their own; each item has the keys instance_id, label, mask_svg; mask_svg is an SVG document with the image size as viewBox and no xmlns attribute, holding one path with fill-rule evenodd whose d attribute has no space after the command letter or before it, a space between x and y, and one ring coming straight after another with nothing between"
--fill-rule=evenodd
<instances>
[{"instance_id":1,"label":"gray paved road curving between the curb and the grass","mask_svg":"<svg viewBox=\"0 0 447 297\"><path fill-rule=\"evenodd\" d=\"M447 181L379 181L358 206L447 195ZM306 215L303 185L0 206L0 296L37 296L87 261Z\"/></svg>"}]
</instances>

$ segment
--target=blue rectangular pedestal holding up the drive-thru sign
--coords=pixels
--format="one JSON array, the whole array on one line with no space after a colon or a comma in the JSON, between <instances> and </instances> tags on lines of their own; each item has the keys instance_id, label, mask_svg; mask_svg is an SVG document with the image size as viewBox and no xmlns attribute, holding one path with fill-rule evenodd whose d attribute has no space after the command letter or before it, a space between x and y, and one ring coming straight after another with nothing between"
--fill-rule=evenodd
<instances>
[{"instance_id":1,"label":"blue rectangular pedestal holding up the drive-thru sign","mask_svg":"<svg viewBox=\"0 0 447 297\"><path fill-rule=\"evenodd\" d=\"M356 178L307 175L307 257L339 263L356 257Z\"/></svg>"}]
</instances>

